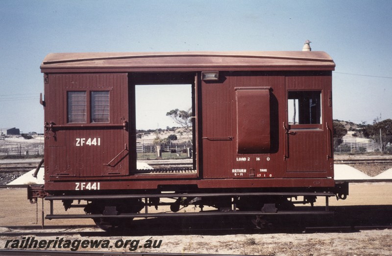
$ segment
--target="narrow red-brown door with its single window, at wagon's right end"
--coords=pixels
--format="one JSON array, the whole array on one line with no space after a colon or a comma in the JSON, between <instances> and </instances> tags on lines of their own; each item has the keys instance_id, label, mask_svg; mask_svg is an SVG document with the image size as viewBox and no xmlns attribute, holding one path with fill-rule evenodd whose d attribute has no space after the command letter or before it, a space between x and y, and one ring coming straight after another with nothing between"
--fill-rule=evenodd
<instances>
[{"instance_id":1,"label":"narrow red-brown door with its single window, at wagon's right end","mask_svg":"<svg viewBox=\"0 0 392 256\"><path fill-rule=\"evenodd\" d=\"M332 108L328 76L286 77L282 124L287 177L325 177L331 170ZM312 174L313 173L313 174Z\"/></svg>"}]
</instances>

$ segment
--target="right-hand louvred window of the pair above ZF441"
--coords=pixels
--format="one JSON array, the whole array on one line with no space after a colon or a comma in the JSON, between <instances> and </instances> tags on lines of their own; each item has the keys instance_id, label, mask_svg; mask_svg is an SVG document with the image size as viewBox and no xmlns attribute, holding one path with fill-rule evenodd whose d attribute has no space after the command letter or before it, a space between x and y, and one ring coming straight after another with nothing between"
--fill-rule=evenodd
<instances>
[{"instance_id":1,"label":"right-hand louvred window of the pair above ZF441","mask_svg":"<svg viewBox=\"0 0 392 256\"><path fill-rule=\"evenodd\" d=\"M91 92L91 123L109 123L109 92Z\"/></svg>"}]
</instances>

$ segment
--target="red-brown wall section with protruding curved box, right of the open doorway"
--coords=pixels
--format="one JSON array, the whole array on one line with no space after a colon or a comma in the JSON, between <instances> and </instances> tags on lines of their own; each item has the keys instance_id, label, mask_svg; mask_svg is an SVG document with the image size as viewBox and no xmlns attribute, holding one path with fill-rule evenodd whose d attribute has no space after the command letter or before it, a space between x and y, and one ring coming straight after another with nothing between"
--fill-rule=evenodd
<instances>
[{"instance_id":1,"label":"red-brown wall section with protruding curved box, right of the open doorway","mask_svg":"<svg viewBox=\"0 0 392 256\"><path fill-rule=\"evenodd\" d=\"M278 103L284 101L284 83L273 72L221 72L219 81L201 81L204 179L284 175L279 137L284 106Z\"/></svg>"}]
</instances>

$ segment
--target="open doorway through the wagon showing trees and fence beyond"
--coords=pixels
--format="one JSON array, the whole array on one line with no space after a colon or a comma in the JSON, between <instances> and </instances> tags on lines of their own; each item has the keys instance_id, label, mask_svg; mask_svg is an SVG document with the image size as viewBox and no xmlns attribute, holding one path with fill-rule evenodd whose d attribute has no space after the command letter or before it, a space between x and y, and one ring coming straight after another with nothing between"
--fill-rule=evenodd
<instances>
[{"instance_id":1,"label":"open doorway through the wagon showing trees and fence beyond","mask_svg":"<svg viewBox=\"0 0 392 256\"><path fill-rule=\"evenodd\" d=\"M135 80L137 174L196 173L193 81Z\"/></svg>"}]
</instances>

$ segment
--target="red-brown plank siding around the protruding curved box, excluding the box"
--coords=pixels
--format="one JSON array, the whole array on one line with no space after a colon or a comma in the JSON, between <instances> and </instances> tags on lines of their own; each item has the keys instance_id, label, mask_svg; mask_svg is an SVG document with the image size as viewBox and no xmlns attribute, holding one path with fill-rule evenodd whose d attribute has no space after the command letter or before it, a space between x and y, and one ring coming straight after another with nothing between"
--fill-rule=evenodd
<instances>
[{"instance_id":1,"label":"red-brown plank siding around the protruding curved box, excluding the box","mask_svg":"<svg viewBox=\"0 0 392 256\"><path fill-rule=\"evenodd\" d=\"M283 122L283 115L278 115L280 107L277 99L284 98L284 82L282 76L274 73L221 73L221 81L202 82L202 120L203 120L203 178L250 178L249 170L257 174L271 174L282 177L286 170L283 160L281 139L275 128ZM237 153L237 110L236 87L271 87L270 92L270 153L238 154ZM283 108L283 107L281 107ZM242 114L242 113L240 113ZM238 160L243 159L246 160ZM258 160L258 158L260 158ZM268 160L267 160L268 159ZM242 175L235 175L233 170L246 169ZM260 169L267 172L261 173ZM261 178L261 177L259 177Z\"/></svg>"}]
</instances>

